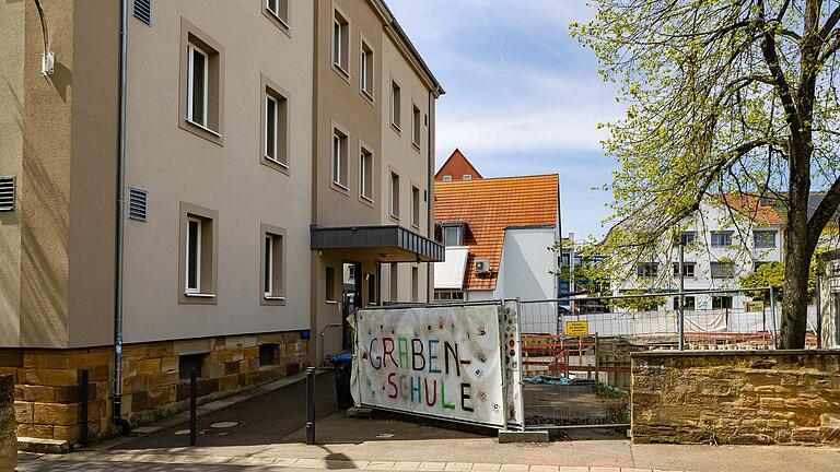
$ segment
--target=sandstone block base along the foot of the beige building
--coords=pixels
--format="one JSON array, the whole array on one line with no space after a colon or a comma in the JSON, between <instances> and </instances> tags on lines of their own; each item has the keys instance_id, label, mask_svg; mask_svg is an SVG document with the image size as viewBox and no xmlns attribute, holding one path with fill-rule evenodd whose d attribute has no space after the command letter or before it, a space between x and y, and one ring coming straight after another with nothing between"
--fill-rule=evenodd
<instances>
[{"instance_id":1,"label":"sandstone block base along the foot of the beige building","mask_svg":"<svg viewBox=\"0 0 840 472\"><path fill-rule=\"evenodd\" d=\"M275 356L261 365L259 346L265 344ZM298 374L307 364L307 349L300 332L128 344L122 350L121 416L138 426L188 406L188 373L179 371L180 356L202 358L197 387L203 402ZM81 441L82 370L89 376L90 439L110 436L113 347L0 350L0 375L14 379L19 437Z\"/></svg>"}]
</instances>

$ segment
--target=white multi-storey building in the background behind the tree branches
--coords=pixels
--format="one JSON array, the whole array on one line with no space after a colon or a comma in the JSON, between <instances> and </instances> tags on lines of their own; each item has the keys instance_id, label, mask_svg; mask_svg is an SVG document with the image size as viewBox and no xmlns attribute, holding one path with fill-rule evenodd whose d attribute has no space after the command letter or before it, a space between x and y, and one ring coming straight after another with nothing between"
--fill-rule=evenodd
<instances>
[{"instance_id":1,"label":"white multi-storey building in the background behind the tree branches","mask_svg":"<svg viewBox=\"0 0 840 472\"><path fill-rule=\"evenodd\" d=\"M752 196L709 200L686 223L684 267L686 291L738 288L740 278L767 262L782 262L782 224L777 210ZM643 290L677 291L679 245L663 241L661 250L635 263L634 273L614 286L616 295ZM740 293L686 296L686 309L745 308L750 297ZM676 297L668 306L677 308Z\"/></svg>"}]
</instances>

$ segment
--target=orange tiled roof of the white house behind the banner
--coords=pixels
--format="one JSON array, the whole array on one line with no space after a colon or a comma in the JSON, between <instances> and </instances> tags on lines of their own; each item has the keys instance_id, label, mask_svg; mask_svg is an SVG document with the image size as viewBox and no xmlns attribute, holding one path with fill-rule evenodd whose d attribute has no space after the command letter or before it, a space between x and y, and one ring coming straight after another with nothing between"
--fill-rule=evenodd
<instances>
[{"instance_id":1,"label":"orange tiled roof of the white house behind the banner","mask_svg":"<svg viewBox=\"0 0 840 472\"><path fill-rule=\"evenodd\" d=\"M557 224L558 186L557 174L434 182L434 221L467 224L465 290L495 288L504 228ZM493 272L476 275L476 259L489 259Z\"/></svg>"}]
</instances>

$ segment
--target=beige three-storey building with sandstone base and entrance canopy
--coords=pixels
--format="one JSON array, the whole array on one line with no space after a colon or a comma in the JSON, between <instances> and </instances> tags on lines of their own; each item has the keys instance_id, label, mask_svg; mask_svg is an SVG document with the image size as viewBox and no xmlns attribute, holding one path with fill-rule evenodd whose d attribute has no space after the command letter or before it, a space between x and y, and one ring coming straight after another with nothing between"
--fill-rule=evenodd
<instances>
[{"instance_id":1,"label":"beige three-storey building with sandstone base and entrance canopy","mask_svg":"<svg viewBox=\"0 0 840 472\"><path fill-rule=\"evenodd\" d=\"M94 437L184 409L191 369L201 401L299 374L352 307L429 300L443 257L443 90L382 0L120 3L0 8L23 437L80 440L83 370Z\"/></svg>"}]
</instances>

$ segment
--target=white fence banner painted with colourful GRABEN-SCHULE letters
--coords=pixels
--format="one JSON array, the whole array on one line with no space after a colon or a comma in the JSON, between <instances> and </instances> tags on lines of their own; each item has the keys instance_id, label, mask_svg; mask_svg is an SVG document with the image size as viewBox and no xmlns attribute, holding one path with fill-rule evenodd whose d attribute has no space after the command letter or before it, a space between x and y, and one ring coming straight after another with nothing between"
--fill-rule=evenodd
<instances>
[{"instance_id":1,"label":"white fence banner painted with colourful GRABEN-SCHULE letters","mask_svg":"<svg viewBox=\"0 0 840 472\"><path fill-rule=\"evenodd\" d=\"M483 425L505 422L499 305L361 309L358 404Z\"/></svg>"}]
</instances>

